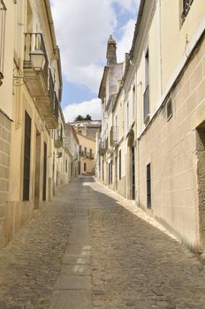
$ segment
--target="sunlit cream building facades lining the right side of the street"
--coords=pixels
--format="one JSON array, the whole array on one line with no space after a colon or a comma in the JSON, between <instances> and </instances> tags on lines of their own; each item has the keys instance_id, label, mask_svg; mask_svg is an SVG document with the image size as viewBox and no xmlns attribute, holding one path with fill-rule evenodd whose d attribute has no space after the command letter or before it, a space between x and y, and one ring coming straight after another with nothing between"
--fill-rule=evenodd
<instances>
[{"instance_id":1,"label":"sunlit cream building facades lining the right side of the street","mask_svg":"<svg viewBox=\"0 0 205 309\"><path fill-rule=\"evenodd\" d=\"M132 49L116 79L110 114L103 115L102 127L116 126L118 136L113 143L113 131L105 138L102 131L99 144L103 183L200 252L205 250L204 15L203 1L140 1ZM103 79L102 107L110 87L107 79L102 95Z\"/></svg>"}]
</instances>

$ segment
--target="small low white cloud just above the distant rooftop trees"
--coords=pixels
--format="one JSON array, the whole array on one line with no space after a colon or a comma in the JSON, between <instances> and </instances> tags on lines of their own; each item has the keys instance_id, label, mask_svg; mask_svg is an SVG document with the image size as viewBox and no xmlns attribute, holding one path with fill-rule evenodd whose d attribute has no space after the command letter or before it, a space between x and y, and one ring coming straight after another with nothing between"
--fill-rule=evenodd
<instances>
[{"instance_id":1,"label":"small low white cloud just above the distant rooftop trees","mask_svg":"<svg viewBox=\"0 0 205 309\"><path fill-rule=\"evenodd\" d=\"M91 101L72 103L67 105L63 111L66 122L72 122L78 115L86 117L87 114L93 120L99 120L101 119L101 100L93 99Z\"/></svg>"}]
</instances>

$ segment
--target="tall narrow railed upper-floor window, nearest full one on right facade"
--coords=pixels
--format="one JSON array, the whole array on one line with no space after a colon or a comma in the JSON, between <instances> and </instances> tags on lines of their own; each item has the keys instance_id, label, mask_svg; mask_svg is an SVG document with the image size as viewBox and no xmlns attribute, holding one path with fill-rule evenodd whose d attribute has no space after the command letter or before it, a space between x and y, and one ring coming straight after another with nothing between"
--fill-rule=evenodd
<instances>
[{"instance_id":1,"label":"tall narrow railed upper-floor window, nearest full one on right facade","mask_svg":"<svg viewBox=\"0 0 205 309\"><path fill-rule=\"evenodd\" d=\"M149 115L149 59L148 49L145 53L145 92L144 92L144 123L148 122Z\"/></svg>"}]
</instances>

